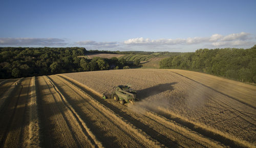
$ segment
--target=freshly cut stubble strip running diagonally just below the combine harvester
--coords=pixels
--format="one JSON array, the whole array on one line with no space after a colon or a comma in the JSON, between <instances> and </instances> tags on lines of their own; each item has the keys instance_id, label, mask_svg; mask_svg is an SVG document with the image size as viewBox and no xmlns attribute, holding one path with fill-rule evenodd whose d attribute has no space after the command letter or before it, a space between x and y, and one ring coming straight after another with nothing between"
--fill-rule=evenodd
<instances>
[{"instance_id":1,"label":"freshly cut stubble strip running diagonally just below the combine harvester","mask_svg":"<svg viewBox=\"0 0 256 148\"><path fill-rule=\"evenodd\" d=\"M127 107L117 102L106 102L105 100L102 100L93 92L87 90L83 86L75 83L74 81L66 77L62 78L69 82L67 83L67 85L75 85L76 87L78 87L79 90L90 94L90 96L92 96L94 99L97 99L97 101L99 101L101 104L110 108L115 113L122 116L126 121L130 122L138 129L145 131L152 138L158 140L160 143L164 144L167 147L216 147L218 145L218 142L214 142L198 133L189 131L187 128L181 127L181 125L174 124L172 121L167 121L166 119L164 119L163 116L157 115L150 111L146 111L145 114L135 113L134 111L127 109ZM177 129L177 127L179 130ZM180 129L182 129L182 132L180 131Z\"/></svg>"}]
</instances>

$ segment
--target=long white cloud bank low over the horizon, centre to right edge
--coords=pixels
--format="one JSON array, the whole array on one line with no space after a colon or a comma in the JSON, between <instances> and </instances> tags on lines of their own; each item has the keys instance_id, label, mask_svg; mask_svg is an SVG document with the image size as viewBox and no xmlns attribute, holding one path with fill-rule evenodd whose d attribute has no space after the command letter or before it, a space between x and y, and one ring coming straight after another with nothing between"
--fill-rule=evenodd
<instances>
[{"instance_id":1,"label":"long white cloud bank low over the horizon, centre to right edge","mask_svg":"<svg viewBox=\"0 0 256 148\"><path fill-rule=\"evenodd\" d=\"M150 39L150 38L132 38L123 42L96 42L79 41L75 45L83 45L89 49L117 49L118 50L144 50L144 51L174 51L182 48L226 48L240 47L249 48L255 44L255 39L249 33L238 33L223 36L213 34L210 37L191 37L186 39ZM188 50L187 50L188 51Z\"/></svg>"}]
</instances>

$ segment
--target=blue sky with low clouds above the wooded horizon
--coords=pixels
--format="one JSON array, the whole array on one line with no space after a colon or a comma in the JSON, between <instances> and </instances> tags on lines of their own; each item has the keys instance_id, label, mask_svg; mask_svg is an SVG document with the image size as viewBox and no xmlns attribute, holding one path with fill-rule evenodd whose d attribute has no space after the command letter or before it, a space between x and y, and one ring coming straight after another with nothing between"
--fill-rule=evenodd
<instances>
[{"instance_id":1,"label":"blue sky with low clouds above the wooded horizon","mask_svg":"<svg viewBox=\"0 0 256 148\"><path fill-rule=\"evenodd\" d=\"M193 52L256 44L256 1L0 2L0 46Z\"/></svg>"}]
</instances>

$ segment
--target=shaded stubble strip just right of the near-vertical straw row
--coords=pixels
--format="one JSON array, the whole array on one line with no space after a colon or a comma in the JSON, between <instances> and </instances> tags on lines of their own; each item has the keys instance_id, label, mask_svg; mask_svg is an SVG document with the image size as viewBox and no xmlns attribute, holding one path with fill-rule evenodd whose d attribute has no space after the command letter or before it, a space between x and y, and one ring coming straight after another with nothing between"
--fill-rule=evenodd
<instances>
[{"instance_id":1,"label":"shaded stubble strip just right of the near-vertical straw row","mask_svg":"<svg viewBox=\"0 0 256 148\"><path fill-rule=\"evenodd\" d=\"M39 90L42 99L42 108L44 109L45 117L43 120L44 126L44 143L46 147L77 147L73 139L74 135L70 131L66 120L64 119L61 110L58 107L56 92L46 80L45 76L38 78Z\"/></svg>"}]
</instances>

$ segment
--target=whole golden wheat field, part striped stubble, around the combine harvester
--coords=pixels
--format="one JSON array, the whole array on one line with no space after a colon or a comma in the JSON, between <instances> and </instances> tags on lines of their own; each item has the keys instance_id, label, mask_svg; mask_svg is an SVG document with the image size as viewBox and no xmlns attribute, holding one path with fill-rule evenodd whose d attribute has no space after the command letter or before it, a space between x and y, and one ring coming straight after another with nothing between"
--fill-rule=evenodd
<instances>
[{"instance_id":1,"label":"whole golden wheat field, part striped stubble, around the combine harvester","mask_svg":"<svg viewBox=\"0 0 256 148\"><path fill-rule=\"evenodd\" d=\"M131 84L139 101L102 99ZM1 147L255 147L256 86L184 70L0 81Z\"/></svg>"}]
</instances>

